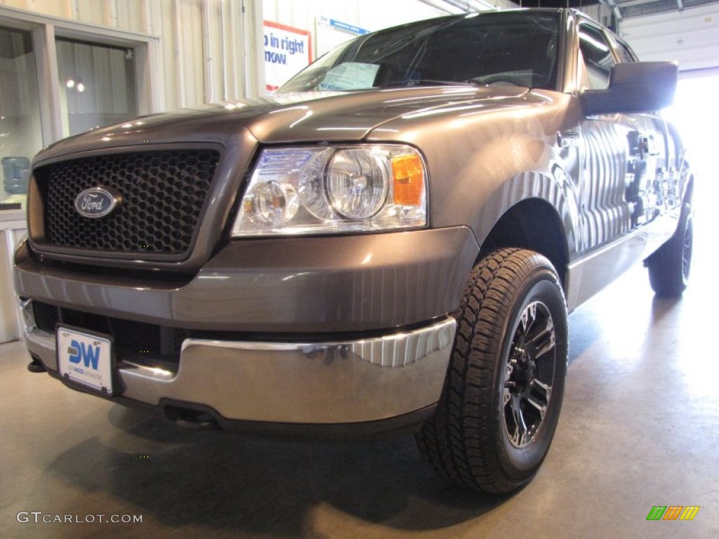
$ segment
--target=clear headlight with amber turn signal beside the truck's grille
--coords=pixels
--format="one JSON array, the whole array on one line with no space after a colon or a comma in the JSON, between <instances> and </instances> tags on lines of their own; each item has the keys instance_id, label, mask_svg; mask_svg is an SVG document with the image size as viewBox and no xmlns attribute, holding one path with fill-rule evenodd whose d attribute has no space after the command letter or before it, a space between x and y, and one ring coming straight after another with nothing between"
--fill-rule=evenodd
<instances>
[{"instance_id":1,"label":"clear headlight with amber turn signal beside the truck's grille","mask_svg":"<svg viewBox=\"0 0 719 539\"><path fill-rule=\"evenodd\" d=\"M262 150L233 236L425 226L426 167L408 146Z\"/></svg>"}]
</instances>

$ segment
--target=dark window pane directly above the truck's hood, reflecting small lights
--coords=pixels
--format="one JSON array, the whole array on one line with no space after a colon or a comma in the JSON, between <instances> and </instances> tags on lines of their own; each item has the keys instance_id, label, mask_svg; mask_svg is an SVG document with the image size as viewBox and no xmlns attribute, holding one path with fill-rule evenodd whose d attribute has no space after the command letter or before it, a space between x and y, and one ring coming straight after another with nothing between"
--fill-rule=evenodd
<instances>
[{"instance_id":1,"label":"dark window pane directly above the truck's hood, reflecting small lights","mask_svg":"<svg viewBox=\"0 0 719 539\"><path fill-rule=\"evenodd\" d=\"M57 40L65 135L137 116L134 51Z\"/></svg>"}]
</instances>

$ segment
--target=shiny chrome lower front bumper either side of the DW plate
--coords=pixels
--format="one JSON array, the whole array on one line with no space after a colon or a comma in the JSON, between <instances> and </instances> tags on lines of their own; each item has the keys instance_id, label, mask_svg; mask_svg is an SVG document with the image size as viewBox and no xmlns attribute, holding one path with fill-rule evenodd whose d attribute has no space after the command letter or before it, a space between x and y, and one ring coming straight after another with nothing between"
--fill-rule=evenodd
<instances>
[{"instance_id":1,"label":"shiny chrome lower front bumper either side of the DW plate","mask_svg":"<svg viewBox=\"0 0 719 539\"><path fill-rule=\"evenodd\" d=\"M27 349L57 372L55 336L21 303ZM226 420L339 424L385 420L439 400L456 323L356 341L183 342L176 373L120 361L121 396L152 407L183 402Z\"/></svg>"}]
</instances>

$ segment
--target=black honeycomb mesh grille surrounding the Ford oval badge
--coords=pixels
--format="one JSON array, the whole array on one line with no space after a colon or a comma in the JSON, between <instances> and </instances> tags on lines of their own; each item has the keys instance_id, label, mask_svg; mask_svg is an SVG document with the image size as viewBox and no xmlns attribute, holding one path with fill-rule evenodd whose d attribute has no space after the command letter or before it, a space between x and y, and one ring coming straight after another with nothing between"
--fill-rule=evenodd
<instances>
[{"instance_id":1,"label":"black honeycomb mesh grille surrounding the Ford oval badge","mask_svg":"<svg viewBox=\"0 0 719 539\"><path fill-rule=\"evenodd\" d=\"M181 255L191 248L219 152L183 149L102 155L35 171L45 199L45 244L127 254ZM75 211L93 187L118 191L122 203L102 218Z\"/></svg>"}]
</instances>

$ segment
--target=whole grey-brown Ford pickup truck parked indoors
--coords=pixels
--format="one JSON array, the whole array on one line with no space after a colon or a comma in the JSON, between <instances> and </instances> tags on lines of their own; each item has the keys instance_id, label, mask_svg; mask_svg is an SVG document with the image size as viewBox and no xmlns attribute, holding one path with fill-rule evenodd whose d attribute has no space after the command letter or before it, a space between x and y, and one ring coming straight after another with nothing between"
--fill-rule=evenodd
<instances>
[{"instance_id":1,"label":"whole grey-brown Ford pickup truck parked indoors","mask_svg":"<svg viewBox=\"0 0 719 539\"><path fill-rule=\"evenodd\" d=\"M481 12L57 142L15 254L29 369L189 428L413 432L450 482L517 489L567 313L638 261L687 285L676 83L578 11Z\"/></svg>"}]
</instances>

